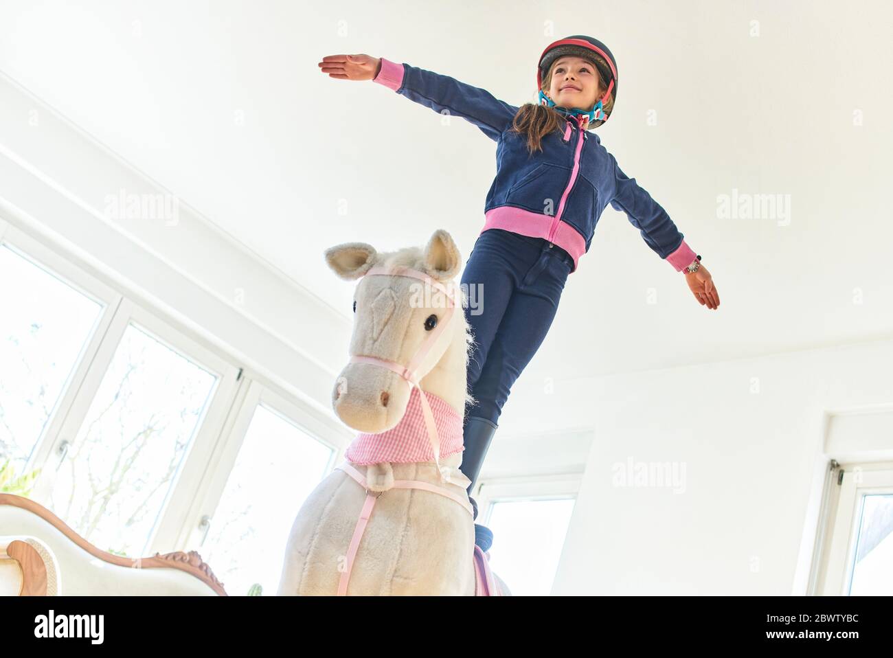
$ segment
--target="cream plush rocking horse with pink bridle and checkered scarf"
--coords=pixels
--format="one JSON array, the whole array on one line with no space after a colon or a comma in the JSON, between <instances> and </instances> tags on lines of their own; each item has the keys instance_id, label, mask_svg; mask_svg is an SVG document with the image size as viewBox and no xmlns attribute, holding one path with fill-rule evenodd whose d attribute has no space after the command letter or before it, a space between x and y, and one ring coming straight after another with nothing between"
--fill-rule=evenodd
<instances>
[{"instance_id":1,"label":"cream plush rocking horse with pink bridle and checkered scarf","mask_svg":"<svg viewBox=\"0 0 893 658\"><path fill-rule=\"evenodd\" d=\"M306 499L278 596L508 596L474 543L463 450L472 334L444 230L428 246L326 250L355 288L350 361L332 391L359 434Z\"/></svg>"}]
</instances>

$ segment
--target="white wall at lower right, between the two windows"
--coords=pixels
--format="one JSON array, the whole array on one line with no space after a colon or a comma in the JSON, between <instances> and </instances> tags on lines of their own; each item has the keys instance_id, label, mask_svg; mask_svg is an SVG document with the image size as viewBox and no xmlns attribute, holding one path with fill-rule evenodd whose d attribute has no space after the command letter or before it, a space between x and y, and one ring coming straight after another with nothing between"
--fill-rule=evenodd
<instances>
[{"instance_id":1,"label":"white wall at lower right, between the two windows","mask_svg":"<svg viewBox=\"0 0 893 658\"><path fill-rule=\"evenodd\" d=\"M891 365L888 340L559 392L596 430L553 594L804 594L825 462L893 451L889 413L856 432L826 413L893 409ZM615 486L630 459L677 462L679 493Z\"/></svg>"}]
</instances>

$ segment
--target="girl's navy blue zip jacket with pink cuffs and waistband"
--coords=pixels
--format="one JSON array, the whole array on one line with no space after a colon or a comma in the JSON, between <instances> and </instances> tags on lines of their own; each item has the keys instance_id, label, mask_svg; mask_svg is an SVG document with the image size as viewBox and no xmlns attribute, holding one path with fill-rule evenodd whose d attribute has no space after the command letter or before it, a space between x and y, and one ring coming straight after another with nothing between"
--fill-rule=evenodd
<instances>
[{"instance_id":1,"label":"girl's navy blue zip jacket with pink cuffs and waistband","mask_svg":"<svg viewBox=\"0 0 893 658\"><path fill-rule=\"evenodd\" d=\"M484 204L484 227L542 237L573 257L577 270L589 250L598 218L611 204L626 212L647 246L677 270L695 260L683 235L636 179L630 179L582 118L543 137L530 154L526 136L509 130L518 107L486 89L407 63L381 58L375 82L435 112L471 121L497 143L497 175Z\"/></svg>"}]
</instances>

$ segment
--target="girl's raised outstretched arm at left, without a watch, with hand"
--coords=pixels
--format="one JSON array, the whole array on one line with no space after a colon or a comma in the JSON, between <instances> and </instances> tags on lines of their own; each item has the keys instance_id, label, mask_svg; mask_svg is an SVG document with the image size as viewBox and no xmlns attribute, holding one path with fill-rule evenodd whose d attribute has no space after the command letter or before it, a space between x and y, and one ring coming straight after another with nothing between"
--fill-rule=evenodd
<instances>
[{"instance_id":1,"label":"girl's raised outstretched arm at left, without a watch, with hand","mask_svg":"<svg viewBox=\"0 0 893 658\"><path fill-rule=\"evenodd\" d=\"M384 57L335 54L323 57L320 66L332 78L371 79L435 112L462 117L494 141L518 112L517 107L500 101L486 89Z\"/></svg>"}]
</instances>

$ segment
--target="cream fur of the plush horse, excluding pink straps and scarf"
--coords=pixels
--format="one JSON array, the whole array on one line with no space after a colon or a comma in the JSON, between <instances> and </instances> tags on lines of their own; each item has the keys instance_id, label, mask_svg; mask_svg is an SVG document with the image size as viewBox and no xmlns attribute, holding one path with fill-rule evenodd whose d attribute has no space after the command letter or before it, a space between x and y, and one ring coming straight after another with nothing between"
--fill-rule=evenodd
<instances>
[{"instance_id":1,"label":"cream fur of the plush horse, excluding pink straps and scarf","mask_svg":"<svg viewBox=\"0 0 893 658\"><path fill-rule=\"evenodd\" d=\"M454 291L457 303L466 304L455 276L460 271L459 250L445 230L437 230L424 250L407 247L379 254L365 243L334 246L326 262L342 279L354 280L374 265L404 265L423 271ZM431 291L431 305L418 295L424 284L408 277L370 276L355 290L356 314L349 354L365 354L406 364L428 332L426 319L443 318L442 298ZM413 294L414 293L414 294ZM465 377L472 334L463 308L453 318L438 346L419 373L421 388L442 397L460 415L466 401ZM395 372L369 363L347 363L332 389L332 407L349 427L380 433L403 418L410 388ZM372 491L382 492L372 510L351 571L348 595L474 595L474 524L472 516L446 496L418 489L392 488L395 479L421 479L449 487L467 499L469 480L458 467L462 453L442 457L451 482L438 479L433 461L383 462L364 466ZM279 596L334 595L345 564L347 546L354 534L365 492L344 471L335 470L305 500L288 537ZM504 594L508 587L498 580Z\"/></svg>"}]
</instances>

